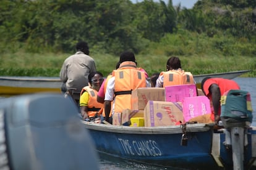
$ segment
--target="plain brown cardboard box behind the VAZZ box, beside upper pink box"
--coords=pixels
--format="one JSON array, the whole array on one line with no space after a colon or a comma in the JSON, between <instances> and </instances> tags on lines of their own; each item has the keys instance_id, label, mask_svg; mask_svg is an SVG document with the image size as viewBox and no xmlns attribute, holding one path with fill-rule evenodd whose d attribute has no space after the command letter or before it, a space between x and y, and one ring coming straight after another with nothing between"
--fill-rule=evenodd
<instances>
[{"instance_id":1,"label":"plain brown cardboard box behind the VAZZ box, beside upper pink box","mask_svg":"<svg viewBox=\"0 0 256 170\"><path fill-rule=\"evenodd\" d=\"M132 110L144 110L148 100L164 101L164 88L142 87L132 91Z\"/></svg>"}]
</instances>

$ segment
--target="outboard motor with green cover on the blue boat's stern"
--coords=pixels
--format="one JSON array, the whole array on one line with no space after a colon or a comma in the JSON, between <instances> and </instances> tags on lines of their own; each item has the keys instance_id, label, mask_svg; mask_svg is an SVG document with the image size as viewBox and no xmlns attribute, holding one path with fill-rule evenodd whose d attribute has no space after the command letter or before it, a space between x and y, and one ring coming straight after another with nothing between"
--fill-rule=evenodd
<instances>
[{"instance_id":1,"label":"outboard motor with green cover on the blue boat's stern","mask_svg":"<svg viewBox=\"0 0 256 170\"><path fill-rule=\"evenodd\" d=\"M221 121L225 132L226 148L232 148L233 169L244 169L244 147L248 145L247 131L252 123L250 94L230 90L221 96Z\"/></svg>"}]
</instances>

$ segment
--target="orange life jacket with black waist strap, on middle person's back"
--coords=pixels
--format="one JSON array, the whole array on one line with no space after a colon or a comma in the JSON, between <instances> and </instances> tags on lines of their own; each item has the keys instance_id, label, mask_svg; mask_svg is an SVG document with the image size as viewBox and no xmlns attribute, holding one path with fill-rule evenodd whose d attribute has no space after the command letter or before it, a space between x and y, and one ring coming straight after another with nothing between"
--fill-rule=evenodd
<instances>
[{"instance_id":1,"label":"orange life jacket with black waist strap, on middle person's back","mask_svg":"<svg viewBox=\"0 0 256 170\"><path fill-rule=\"evenodd\" d=\"M114 112L122 112L132 108L132 90L146 87L145 73L137 70L134 62L122 62L119 69L114 71Z\"/></svg>"}]
</instances>

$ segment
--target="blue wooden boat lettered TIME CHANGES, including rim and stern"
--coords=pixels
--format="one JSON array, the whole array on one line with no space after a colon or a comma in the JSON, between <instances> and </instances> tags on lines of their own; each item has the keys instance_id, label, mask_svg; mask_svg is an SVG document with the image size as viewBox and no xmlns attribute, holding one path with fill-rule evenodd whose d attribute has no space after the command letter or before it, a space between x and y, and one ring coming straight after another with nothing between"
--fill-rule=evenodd
<instances>
[{"instance_id":1,"label":"blue wooden boat lettered TIME CHANGES, including rim and stern","mask_svg":"<svg viewBox=\"0 0 256 170\"><path fill-rule=\"evenodd\" d=\"M129 127L82 121L95 142L96 150L142 163L189 169L233 167L233 154L223 144L223 129L213 124L187 124L187 145L182 145L182 126ZM244 167L255 168L256 127L247 133Z\"/></svg>"}]
</instances>

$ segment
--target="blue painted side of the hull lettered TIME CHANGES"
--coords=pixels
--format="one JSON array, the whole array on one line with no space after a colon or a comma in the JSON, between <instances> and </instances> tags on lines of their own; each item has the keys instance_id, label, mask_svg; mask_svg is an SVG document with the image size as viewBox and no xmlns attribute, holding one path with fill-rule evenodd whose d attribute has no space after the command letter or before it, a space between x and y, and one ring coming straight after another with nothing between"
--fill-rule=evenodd
<instances>
[{"instance_id":1,"label":"blue painted side of the hull lettered TIME CHANGES","mask_svg":"<svg viewBox=\"0 0 256 170\"><path fill-rule=\"evenodd\" d=\"M118 131L105 131L98 128L87 128L95 141L98 152L107 153L112 156L143 163L158 164L161 166L172 166L179 168L217 168L218 166L211 156L211 141L213 130L187 132L188 142L186 146L181 145L182 130L179 126L168 133L164 128L163 134L158 134L152 129L134 129L134 127L123 126ZM113 126L114 127L114 126ZM116 126L118 128L118 126ZM123 131L123 129L127 131Z\"/></svg>"}]
</instances>

